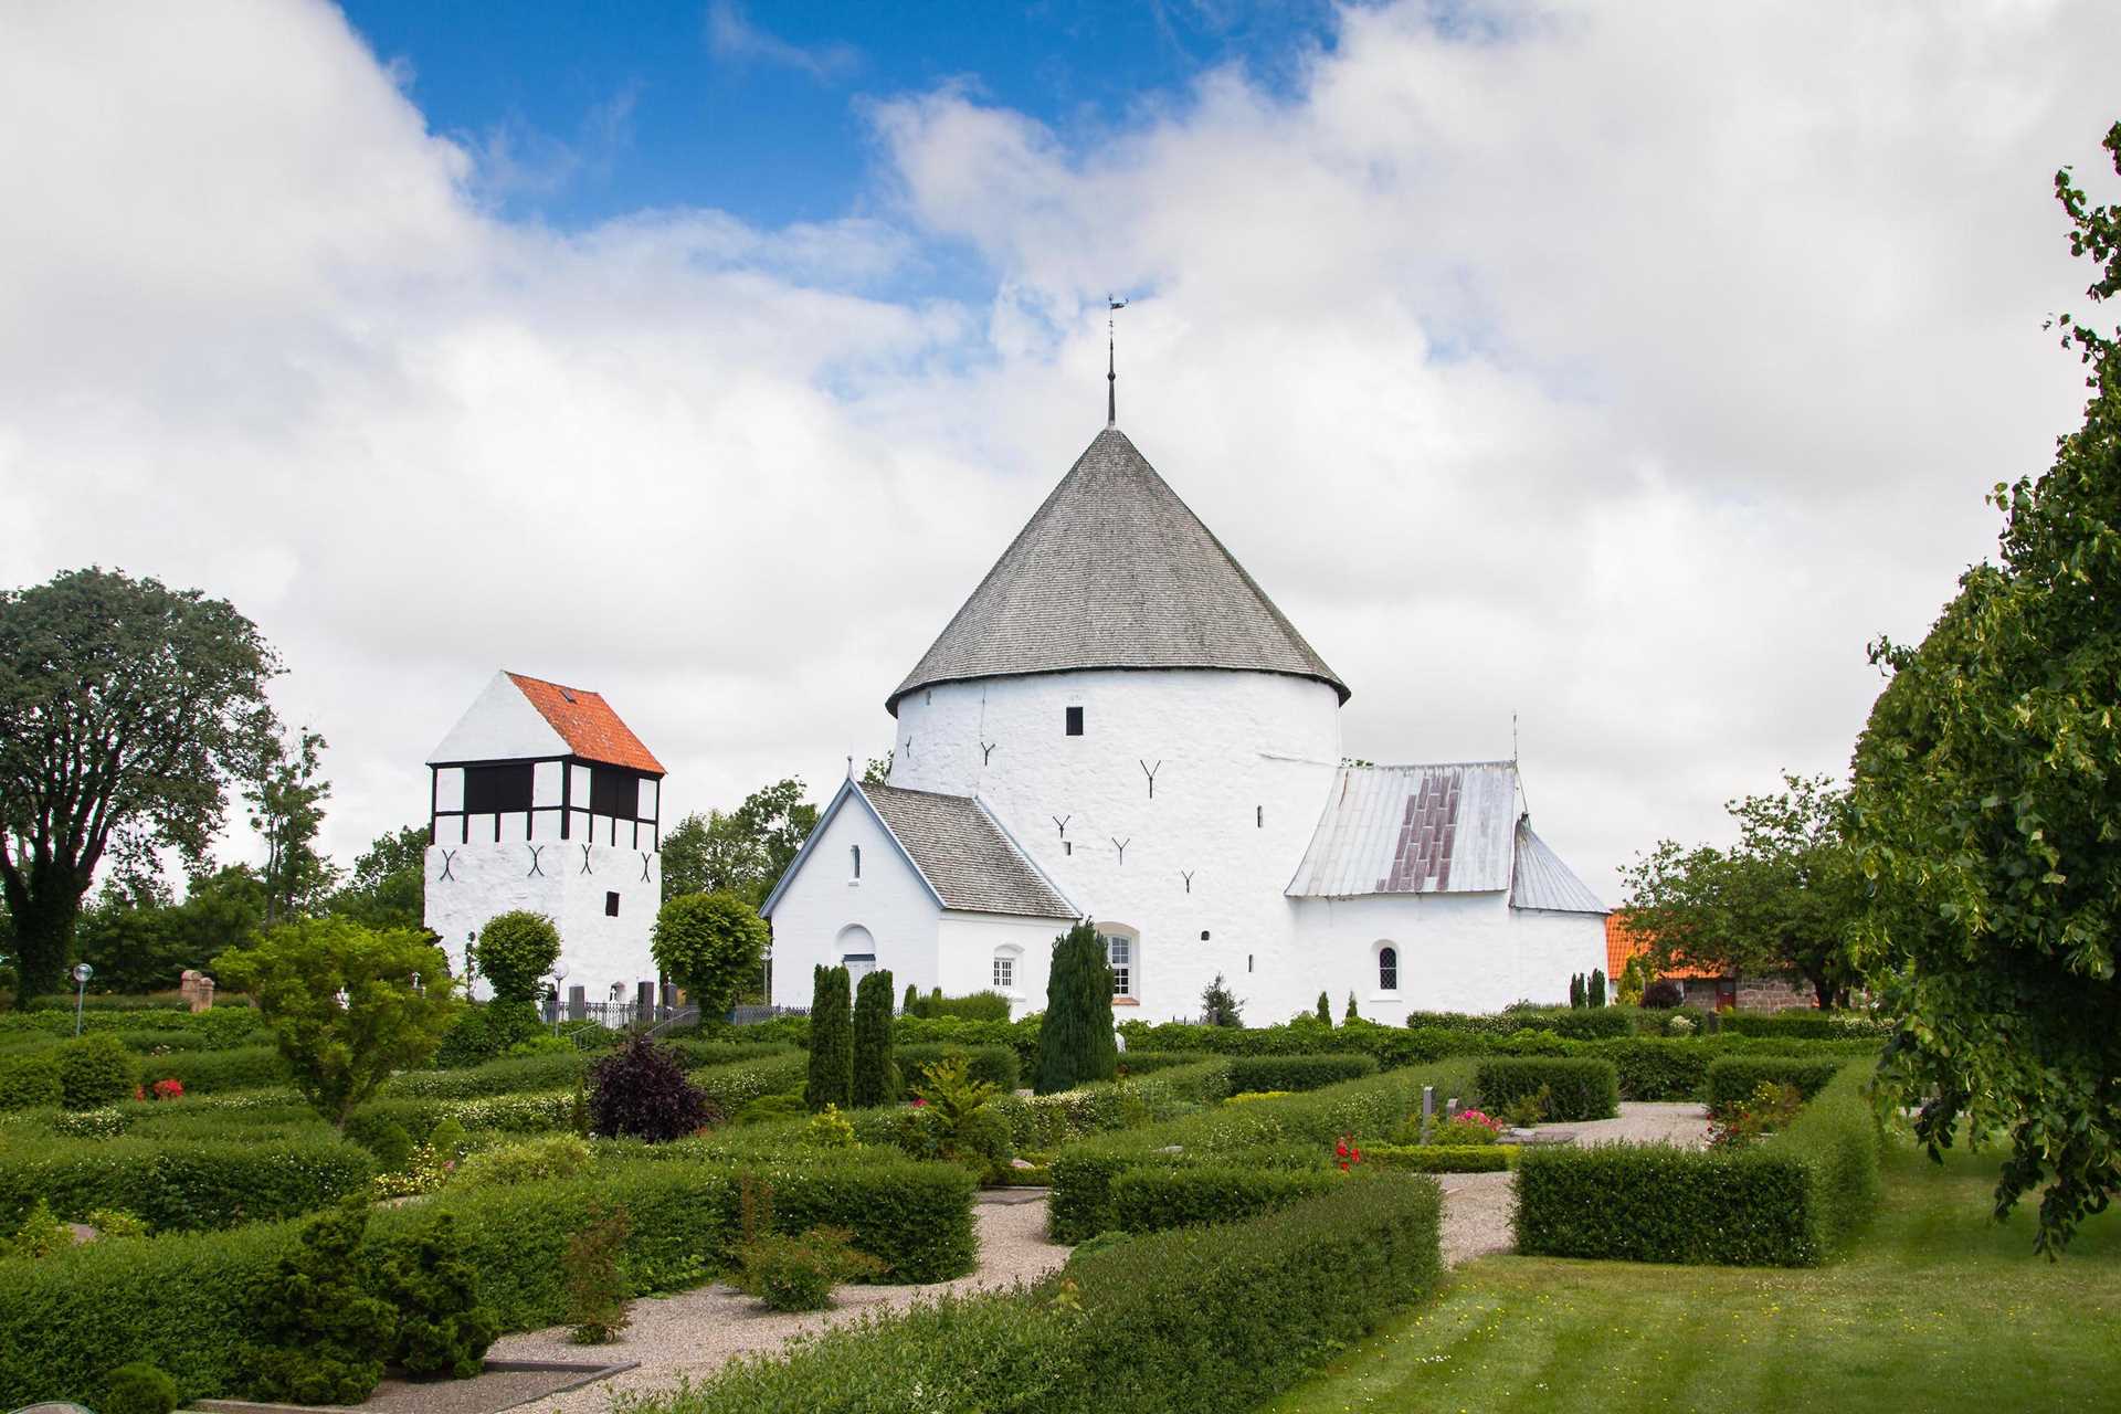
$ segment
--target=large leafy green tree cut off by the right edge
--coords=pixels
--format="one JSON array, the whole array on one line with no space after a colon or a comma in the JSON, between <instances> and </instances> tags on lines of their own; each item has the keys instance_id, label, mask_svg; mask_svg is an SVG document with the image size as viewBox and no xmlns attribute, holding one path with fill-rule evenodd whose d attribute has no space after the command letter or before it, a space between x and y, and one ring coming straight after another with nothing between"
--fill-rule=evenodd
<instances>
[{"instance_id":1,"label":"large leafy green tree cut off by the right edge","mask_svg":"<svg viewBox=\"0 0 2121 1414\"><path fill-rule=\"evenodd\" d=\"M2121 174L2121 123L2104 142ZM2121 293L2121 208L2068 170L2070 248ZM2064 318L2089 367L2085 422L2038 481L1996 485L2000 564L1960 577L1856 744L1852 839L1873 903L1858 962L1898 1018L1879 1068L1936 1153L2009 1153L1996 1210L2040 1196L2059 1253L2121 1189L2121 356Z\"/></svg>"}]
</instances>

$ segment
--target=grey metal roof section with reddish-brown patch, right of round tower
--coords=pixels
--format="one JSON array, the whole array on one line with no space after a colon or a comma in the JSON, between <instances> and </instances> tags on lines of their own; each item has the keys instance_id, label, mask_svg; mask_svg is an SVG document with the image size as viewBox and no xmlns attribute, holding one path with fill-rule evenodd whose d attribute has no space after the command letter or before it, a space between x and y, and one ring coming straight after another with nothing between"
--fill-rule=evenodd
<instances>
[{"instance_id":1,"label":"grey metal roof section with reddish-brown patch, right of round tower","mask_svg":"<svg viewBox=\"0 0 2121 1414\"><path fill-rule=\"evenodd\" d=\"M1517 765L1343 765L1287 892L1502 892L1510 886Z\"/></svg>"}]
</instances>

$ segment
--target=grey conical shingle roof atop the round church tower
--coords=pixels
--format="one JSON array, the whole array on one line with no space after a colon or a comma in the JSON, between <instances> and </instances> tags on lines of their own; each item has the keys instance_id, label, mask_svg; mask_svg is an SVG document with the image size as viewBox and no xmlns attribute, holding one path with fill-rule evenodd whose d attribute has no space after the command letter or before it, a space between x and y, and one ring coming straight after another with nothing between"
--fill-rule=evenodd
<instances>
[{"instance_id":1,"label":"grey conical shingle roof atop the round church tower","mask_svg":"<svg viewBox=\"0 0 2121 1414\"><path fill-rule=\"evenodd\" d=\"M884 700L1084 668L1237 668L1347 685L1222 541L1107 426Z\"/></svg>"}]
</instances>

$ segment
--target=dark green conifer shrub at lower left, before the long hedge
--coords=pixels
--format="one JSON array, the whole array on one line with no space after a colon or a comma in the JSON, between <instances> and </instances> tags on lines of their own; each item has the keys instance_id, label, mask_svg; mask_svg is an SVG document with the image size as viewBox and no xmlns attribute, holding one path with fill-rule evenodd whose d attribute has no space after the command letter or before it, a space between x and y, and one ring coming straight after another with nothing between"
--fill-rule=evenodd
<instances>
[{"instance_id":1,"label":"dark green conifer shrub at lower left, before the long hedge","mask_svg":"<svg viewBox=\"0 0 2121 1414\"><path fill-rule=\"evenodd\" d=\"M361 1285L365 1200L346 1200L301 1230L257 1291L246 1348L250 1395L286 1403L361 1403L384 1378L397 1331L390 1306Z\"/></svg>"}]
</instances>

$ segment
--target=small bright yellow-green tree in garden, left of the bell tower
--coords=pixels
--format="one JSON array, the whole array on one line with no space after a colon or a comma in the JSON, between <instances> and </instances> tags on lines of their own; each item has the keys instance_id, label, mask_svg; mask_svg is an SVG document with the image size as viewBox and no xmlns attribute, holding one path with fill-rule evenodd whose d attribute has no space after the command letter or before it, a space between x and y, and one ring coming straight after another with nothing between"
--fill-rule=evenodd
<instances>
[{"instance_id":1,"label":"small bright yellow-green tree in garden, left of the bell tower","mask_svg":"<svg viewBox=\"0 0 2121 1414\"><path fill-rule=\"evenodd\" d=\"M257 998L301 1098L339 1128L392 1071L426 1064L462 1009L426 935L344 918L280 924L214 975Z\"/></svg>"}]
</instances>

